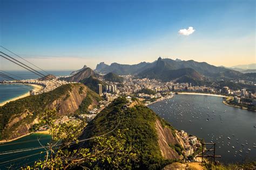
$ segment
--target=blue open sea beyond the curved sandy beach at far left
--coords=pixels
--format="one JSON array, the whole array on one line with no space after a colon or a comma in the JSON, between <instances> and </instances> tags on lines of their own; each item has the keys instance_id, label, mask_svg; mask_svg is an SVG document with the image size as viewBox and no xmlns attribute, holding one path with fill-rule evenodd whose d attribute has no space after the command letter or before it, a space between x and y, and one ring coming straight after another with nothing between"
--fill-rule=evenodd
<instances>
[{"instance_id":1,"label":"blue open sea beyond the curved sandy beach at far left","mask_svg":"<svg viewBox=\"0 0 256 170\"><path fill-rule=\"evenodd\" d=\"M64 76L69 75L71 71L46 71L55 76ZM9 76L14 79L37 79L39 76L27 71L8 71L8 73L12 74ZM42 74L46 75L46 73ZM15 76L14 76L15 75ZM6 80L5 78L0 76L0 81ZM11 98L23 95L31 90L32 87L25 86L23 84L0 84L0 103L10 100Z\"/></svg>"}]
</instances>

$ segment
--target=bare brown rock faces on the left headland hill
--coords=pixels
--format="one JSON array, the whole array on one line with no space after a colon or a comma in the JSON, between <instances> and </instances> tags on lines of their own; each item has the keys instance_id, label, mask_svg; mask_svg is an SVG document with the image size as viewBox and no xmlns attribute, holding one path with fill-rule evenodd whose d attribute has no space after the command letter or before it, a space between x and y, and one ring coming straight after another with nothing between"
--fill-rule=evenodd
<instances>
[{"instance_id":1,"label":"bare brown rock faces on the left headland hill","mask_svg":"<svg viewBox=\"0 0 256 170\"><path fill-rule=\"evenodd\" d=\"M69 86L70 88L61 91L58 97L55 97L55 100L44 105L44 108L41 108L42 112L45 109L56 109L59 116L73 114L86 97L87 87L82 83L70 84ZM51 95L54 96L56 94ZM40 98L39 95L37 97ZM30 111L25 109L21 113L13 115L2 132L4 139L15 139L28 134L29 129L34 124L39 123L39 119L42 117L42 112L39 113L37 108L35 109Z\"/></svg>"}]
</instances>

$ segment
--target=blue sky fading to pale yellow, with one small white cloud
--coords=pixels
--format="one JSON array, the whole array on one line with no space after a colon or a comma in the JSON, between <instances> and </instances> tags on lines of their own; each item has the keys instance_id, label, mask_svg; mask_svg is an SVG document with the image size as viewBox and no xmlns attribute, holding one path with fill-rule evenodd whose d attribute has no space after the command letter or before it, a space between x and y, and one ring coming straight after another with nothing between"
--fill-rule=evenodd
<instances>
[{"instance_id":1,"label":"blue sky fading to pale yellow, with one small white cloud","mask_svg":"<svg viewBox=\"0 0 256 170\"><path fill-rule=\"evenodd\" d=\"M256 62L253 0L0 0L0 6L0 44L46 70L158 56L227 67ZM1 69L19 69L0 62Z\"/></svg>"}]
</instances>

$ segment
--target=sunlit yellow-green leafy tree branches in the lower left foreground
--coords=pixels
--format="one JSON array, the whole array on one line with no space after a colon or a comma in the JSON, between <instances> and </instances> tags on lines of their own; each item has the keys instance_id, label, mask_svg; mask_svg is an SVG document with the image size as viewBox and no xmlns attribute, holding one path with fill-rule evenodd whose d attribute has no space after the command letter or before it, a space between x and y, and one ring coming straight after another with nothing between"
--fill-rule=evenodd
<instances>
[{"instance_id":1,"label":"sunlit yellow-green leafy tree branches in the lower left foreground","mask_svg":"<svg viewBox=\"0 0 256 170\"><path fill-rule=\"evenodd\" d=\"M127 168L131 161L137 161L137 153L128 145L124 134L117 130L116 137L102 136L93 139L92 148L77 147L85 123L56 124L56 110L46 110L42 122L50 128L52 141L44 146L45 159L36 161L33 167L25 169L68 169L89 168L104 164L110 168ZM76 148L76 149L74 149Z\"/></svg>"}]
</instances>

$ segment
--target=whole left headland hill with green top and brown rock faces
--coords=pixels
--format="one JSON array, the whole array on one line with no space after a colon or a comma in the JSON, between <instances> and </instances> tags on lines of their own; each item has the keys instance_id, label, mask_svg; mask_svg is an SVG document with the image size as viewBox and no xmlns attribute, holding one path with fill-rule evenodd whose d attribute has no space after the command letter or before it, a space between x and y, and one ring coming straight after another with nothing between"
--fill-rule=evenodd
<instances>
[{"instance_id":1,"label":"whole left headland hill with green top and brown rock faces","mask_svg":"<svg viewBox=\"0 0 256 170\"><path fill-rule=\"evenodd\" d=\"M87 96L91 100L87 101ZM14 139L28 134L39 123L45 109L56 109L58 116L72 115L81 104L97 104L98 95L81 83L65 84L48 93L32 95L6 103L0 107L0 140ZM83 108L87 110L87 108Z\"/></svg>"}]
</instances>

